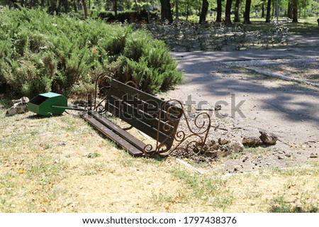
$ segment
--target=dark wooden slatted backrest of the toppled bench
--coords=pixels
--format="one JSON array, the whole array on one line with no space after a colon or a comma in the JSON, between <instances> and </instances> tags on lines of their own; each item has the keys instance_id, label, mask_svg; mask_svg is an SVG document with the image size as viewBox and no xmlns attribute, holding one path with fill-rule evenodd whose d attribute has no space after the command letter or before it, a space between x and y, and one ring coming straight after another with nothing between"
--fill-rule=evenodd
<instances>
[{"instance_id":1,"label":"dark wooden slatted backrest of the toppled bench","mask_svg":"<svg viewBox=\"0 0 319 227\"><path fill-rule=\"evenodd\" d=\"M127 84L111 79L106 111L171 148L183 110Z\"/></svg>"}]
</instances>

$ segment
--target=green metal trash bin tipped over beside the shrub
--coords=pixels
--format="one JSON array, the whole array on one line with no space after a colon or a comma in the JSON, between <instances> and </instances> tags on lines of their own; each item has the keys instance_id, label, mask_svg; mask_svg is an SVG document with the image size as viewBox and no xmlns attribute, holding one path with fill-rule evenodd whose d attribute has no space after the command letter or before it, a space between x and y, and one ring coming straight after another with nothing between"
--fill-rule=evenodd
<instances>
[{"instance_id":1,"label":"green metal trash bin tipped over beside the shrub","mask_svg":"<svg viewBox=\"0 0 319 227\"><path fill-rule=\"evenodd\" d=\"M38 94L28 102L29 111L41 116L59 115L65 111L65 109L54 108L53 106L65 106L67 108L67 98L62 94L47 92Z\"/></svg>"}]
</instances>

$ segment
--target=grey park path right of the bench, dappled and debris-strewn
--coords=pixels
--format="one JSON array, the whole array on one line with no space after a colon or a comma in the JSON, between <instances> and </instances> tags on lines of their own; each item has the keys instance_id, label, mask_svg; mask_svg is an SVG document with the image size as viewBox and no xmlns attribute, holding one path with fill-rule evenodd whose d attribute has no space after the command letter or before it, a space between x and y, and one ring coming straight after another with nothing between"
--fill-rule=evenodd
<instances>
[{"instance_id":1,"label":"grey park path right of the bench, dappled and debris-strewn","mask_svg":"<svg viewBox=\"0 0 319 227\"><path fill-rule=\"evenodd\" d=\"M225 135L240 142L244 136L258 137L259 129L279 136L276 145L267 148L267 155L257 155L256 158L247 155L244 160L250 161L245 164L243 160L226 160L215 169L231 172L235 165L240 165L245 172L256 167L304 165L308 161L318 160L318 87L264 77L238 65L226 64L252 60L267 60L269 64L272 59L304 61L305 58L313 62L319 56L318 52L172 52L172 56L177 58L179 69L184 71L185 83L169 92L167 98L179 99L184 103L192 101L196 109L208 109L221 103L220 114L228 117L220 119L213 116L213 119L221 122L223 128L235 129L222 134L214 132L216 137ZM262 67L267 70L267 65ZM298 65L294 67L298 69ZM318 63L312 72L319 74ZM208 105L201 105L206 102ZM235 111L236 106L240 110Z\"/></svg>"}]
</instances>

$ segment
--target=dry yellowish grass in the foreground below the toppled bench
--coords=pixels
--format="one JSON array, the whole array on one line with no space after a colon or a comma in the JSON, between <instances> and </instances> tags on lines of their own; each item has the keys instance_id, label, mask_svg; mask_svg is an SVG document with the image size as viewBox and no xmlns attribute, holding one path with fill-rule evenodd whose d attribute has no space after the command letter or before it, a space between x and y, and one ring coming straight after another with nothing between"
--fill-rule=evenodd
<instances>
[{"instance_id":1,"label":"dry yellowish grass in the foreground below the toppled bench","mask_svg":"<svg viewBox=\"0 0 319 227\"><path fill-rule=\"evenodd\" d=\"M2 106L3 102L2 102ZM75 113L74 113L75 114ZM76 115L0 112L1 212L317 211L319 167L196 175L134 158Z\"/></svg>"}]
</instances>

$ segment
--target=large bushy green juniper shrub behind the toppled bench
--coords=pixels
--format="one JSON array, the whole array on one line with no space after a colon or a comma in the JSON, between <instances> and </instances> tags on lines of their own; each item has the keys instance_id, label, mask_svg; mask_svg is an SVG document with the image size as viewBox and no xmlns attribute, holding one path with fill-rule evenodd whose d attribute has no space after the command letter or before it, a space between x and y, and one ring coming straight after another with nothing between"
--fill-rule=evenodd
<instances>
[{"instance_id":1,"label":"large bushy green juniper shrub behind the toppled bench","mask_svg":"<svg viewBox=\"0 0 319 227\"><path fill-rule=\"evenodd\" d=\"M15 96L84 96L106 70L150 93L181 81L164 43L130 26L0 8L0 28L0 87Z\"/></svg>"}]
</instances>

